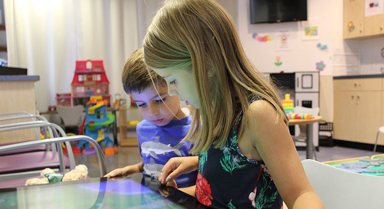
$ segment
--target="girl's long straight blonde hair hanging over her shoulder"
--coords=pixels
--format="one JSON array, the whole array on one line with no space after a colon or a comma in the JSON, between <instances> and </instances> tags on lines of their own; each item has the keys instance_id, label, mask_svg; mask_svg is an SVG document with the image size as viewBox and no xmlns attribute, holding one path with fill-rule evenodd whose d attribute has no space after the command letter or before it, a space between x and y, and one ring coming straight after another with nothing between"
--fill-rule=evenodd
<instances>
[{"instance_id":1,"label":"girl's long straight blonde hair hanging over her shoulder","mask_svg":"<svg viewBox=\"0 0 384 209\"><path fill-rule=\"evenodd\" d=\"M192 69L199 109L184 140L193 154L226 142L235 118L261 96L277 110L276 122L288 118L271 85L250 63L229 15L213 0L168 0L144 38L149 68ZM244 114L244 122L247 115ZM200 125L202 123L202 125ZM240 126L238 139L245 125ZM238 142L238 141L237 141Z\"/></svg>"}]
</instances>

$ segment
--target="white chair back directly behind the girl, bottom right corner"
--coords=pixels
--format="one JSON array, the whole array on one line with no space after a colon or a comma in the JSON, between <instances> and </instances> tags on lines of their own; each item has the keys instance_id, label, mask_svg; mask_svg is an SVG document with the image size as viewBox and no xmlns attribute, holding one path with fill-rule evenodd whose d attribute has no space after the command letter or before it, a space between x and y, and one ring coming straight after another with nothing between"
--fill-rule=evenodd
<instances>
[{"instance_id":1,"label":"white chair back directly behind the girl, bottom right corner","mask_svg":"<svg viewBox=\"0 0 384 209\"><path fill-rule=\"evenodd\" d=\"M354 173L315 160L301 161L326 209L383 209L384 177Z\"/></svg>"}]
</instances>

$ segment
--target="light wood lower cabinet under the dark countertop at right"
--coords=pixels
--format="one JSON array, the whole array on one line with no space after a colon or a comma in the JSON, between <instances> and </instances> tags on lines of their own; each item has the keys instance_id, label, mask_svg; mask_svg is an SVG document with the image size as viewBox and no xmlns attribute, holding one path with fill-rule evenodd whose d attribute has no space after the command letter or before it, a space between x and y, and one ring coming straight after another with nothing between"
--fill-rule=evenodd
<instances>
[{"instance_id":1,"label":"light wood lower cabinet under the dark countertop at right","mask_svg":"<svg viewBox=\"0 0 384 209\"><path fill-rule=\"evenodd\" d=\"M383 124L383 78L334 80L334 138L374 144ZM384 145L384 138L380 141Z\"/></svg>"}]
</instances>

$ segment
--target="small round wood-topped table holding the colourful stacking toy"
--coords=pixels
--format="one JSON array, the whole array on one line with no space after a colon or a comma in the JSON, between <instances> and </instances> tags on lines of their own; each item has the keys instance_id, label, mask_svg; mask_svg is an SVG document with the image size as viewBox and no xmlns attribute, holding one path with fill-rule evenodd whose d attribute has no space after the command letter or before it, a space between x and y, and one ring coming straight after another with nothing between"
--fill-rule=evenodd
<instances>
[{"instance_id":1,"label":"small round wood-topped table holding the colourful stacking toy","mask_svg":"<svg viewBox=\"0 0 384 209\"><path fill-rule=\"evenodd\" d=\"M307 125L307 159L312 159L313 157L313 124L321 119L323 119L322 116L314 115L312 119L289 119L288 121L288 125Z\"/></svg>"}]
</instances>

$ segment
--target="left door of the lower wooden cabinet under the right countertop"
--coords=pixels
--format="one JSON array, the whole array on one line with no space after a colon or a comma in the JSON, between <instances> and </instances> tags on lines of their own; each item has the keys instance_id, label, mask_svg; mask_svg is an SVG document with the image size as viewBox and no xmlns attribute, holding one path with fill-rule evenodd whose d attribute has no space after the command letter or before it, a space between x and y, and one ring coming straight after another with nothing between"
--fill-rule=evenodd
<instances>
[{"instance_id":1,"label":"left door of the lower wooden cabinet under the right countertop","mask_svg":"<svg viewBox=\"0 0 384 209\"><path fill-rule=\"evenodd\" d=\"M355 141L356 103L357 100L354 92L334 92L335 139Z\"/></svg>"}]
</instances>

